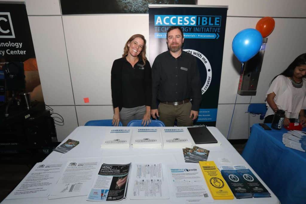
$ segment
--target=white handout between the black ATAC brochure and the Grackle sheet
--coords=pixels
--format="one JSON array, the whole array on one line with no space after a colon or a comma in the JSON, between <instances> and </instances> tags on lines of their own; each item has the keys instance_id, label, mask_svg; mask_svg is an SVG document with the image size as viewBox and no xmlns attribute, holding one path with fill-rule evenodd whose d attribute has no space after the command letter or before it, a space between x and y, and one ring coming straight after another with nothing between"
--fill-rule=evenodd
<instances>
[{"instance_id":1,"label":"white handout between the black ATAC brochure and the Grackle sheet","mask_svg":"<svg viewBox=\"0 0 306 204\"><path fill-rule=\"evenodd\" d=\"M128 198L131 200L169 199L162 164L133 164L129 185Z\"/></svg>"}]
</instances>

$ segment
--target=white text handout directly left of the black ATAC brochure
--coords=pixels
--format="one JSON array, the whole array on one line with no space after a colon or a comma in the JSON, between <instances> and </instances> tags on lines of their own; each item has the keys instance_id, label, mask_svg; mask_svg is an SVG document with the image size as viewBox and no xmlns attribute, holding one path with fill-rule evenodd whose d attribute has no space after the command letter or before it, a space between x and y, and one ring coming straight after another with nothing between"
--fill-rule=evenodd
<instances>
[{"instance_id":1,"label":"white text handout directly left of the black ATAC brochure","mask_svg":"<svg viewBox=\"0 0 306 204\"><path fill-rule=\"evenodd\" d=\"M87 195L100 160L101 158L76 158L68 161L48 199Z\"/></svg>"}]
</instances>

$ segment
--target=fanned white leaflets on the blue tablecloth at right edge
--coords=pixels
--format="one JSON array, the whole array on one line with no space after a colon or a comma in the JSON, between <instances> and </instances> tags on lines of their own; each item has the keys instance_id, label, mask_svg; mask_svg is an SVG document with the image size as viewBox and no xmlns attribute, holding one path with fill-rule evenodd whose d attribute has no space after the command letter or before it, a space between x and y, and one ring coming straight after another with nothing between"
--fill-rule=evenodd
<instances>
[{"instance_id":1,"label":"fanned white leaflets on the blue tablecloth at right edge","mask_svg":"<svg viewBox=\"0 0 306 204\"><path fill-rule=\"evenodd\" d=\"M306 132L291 130L283 134L283 143L286 147L306 152Z\"/></svg>"}]
</instances>

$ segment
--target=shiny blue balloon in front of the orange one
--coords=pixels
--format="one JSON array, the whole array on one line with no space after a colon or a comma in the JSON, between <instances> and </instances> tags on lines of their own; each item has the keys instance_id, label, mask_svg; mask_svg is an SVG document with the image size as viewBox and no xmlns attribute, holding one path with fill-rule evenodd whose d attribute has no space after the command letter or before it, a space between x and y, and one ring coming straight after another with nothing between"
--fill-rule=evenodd
<instances>
[{"instance_id":1,"label":"shiny blue balloon in front of the orange one","mask_svg":"<svg viewBox=\"0 0 306 204\"><path fill-rule=\"evenodd\" d=\"M260 32L253 28L247 28L234 37L232 49L239 61L246 62L259 52L262 44L263 37Z\"/></svg>"}]
</instances>

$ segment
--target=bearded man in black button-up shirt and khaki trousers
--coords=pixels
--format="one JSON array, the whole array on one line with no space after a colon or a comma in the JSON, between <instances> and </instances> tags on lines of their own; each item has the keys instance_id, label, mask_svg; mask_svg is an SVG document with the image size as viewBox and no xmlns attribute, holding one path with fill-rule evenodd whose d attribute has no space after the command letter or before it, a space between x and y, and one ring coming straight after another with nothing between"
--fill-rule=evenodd
<instances>
[{"instance_id":1,"label":"bearded man in black button-up shirt and khaki trousers","mask_svg":"<svg viewBox=\"0 0 306 204\"><path fill-rule=\"evenodd\" d=\"M169 49L159 54L152 66L151 115L166 126L173 126L175 119L179 127L192 126L199 114L200 73L196 57L182 50L183 43L182 29L171 26L167 30Z\"/></svg>"}]
</instances>

